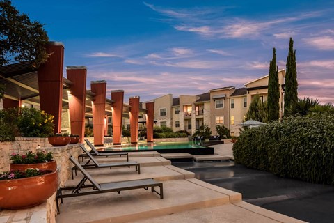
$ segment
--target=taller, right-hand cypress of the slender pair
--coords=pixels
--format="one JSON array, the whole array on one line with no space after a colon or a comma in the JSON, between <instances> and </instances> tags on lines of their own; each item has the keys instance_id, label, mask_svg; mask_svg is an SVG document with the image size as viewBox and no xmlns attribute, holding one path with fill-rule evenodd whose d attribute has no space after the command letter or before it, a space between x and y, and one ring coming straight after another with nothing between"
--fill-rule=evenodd
<instances>
[{"instance_id":1,"label":"taller, right-hand cypress of the slender pair","mask_svg":"<svg viewBox=\"0 0 334 223\"><path fill-rule=\"evenodd\" d=\"M294 40L290 38L287 69L285 73L284 113L287 112L288 107L292 107L298 102L297 91L296 50L294 50Z\"/></svg>"}]
</instances>

